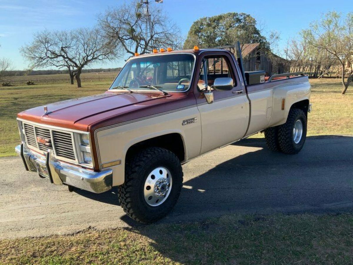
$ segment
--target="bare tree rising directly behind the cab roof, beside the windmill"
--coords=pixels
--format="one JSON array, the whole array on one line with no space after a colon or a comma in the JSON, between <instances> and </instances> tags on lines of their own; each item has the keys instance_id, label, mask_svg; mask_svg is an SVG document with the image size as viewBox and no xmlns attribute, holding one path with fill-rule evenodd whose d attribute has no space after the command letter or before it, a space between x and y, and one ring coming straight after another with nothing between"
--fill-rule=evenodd
<instances>
[{"instance_id":1,"label":"bare tree rising directly behind the cab roof, beside the windmill","mask_svg":"<svg viewBox=\"0 0 353 265\"><path fill-rule=\"evenodd\" d=\"M98 18L104 37L128 54L148 53L158 47L181 47L180 30L154 5L149 6L150 23L144 5L138 1L110 8Z\"/></svg>"}]
</instances>

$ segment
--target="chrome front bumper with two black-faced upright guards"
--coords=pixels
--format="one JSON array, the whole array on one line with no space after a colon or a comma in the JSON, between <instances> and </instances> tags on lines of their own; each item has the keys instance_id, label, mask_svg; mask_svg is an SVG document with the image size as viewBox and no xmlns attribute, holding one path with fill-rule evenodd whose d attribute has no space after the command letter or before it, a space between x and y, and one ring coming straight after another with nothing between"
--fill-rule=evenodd
<instances>
[{"instance_id":1,"label":"chrome front bumper with two black-faced upright guards","mask_svg":"<svg viewBox=\"0 0 353 265\"><path fill-rule=\"evenodd\" d=\"M112 169L95 172L61 163L54 158L53 151L43 156L32 152L25 143L16 146L15 151L22 158L27 171L38 172L42 177L49 178L53 184L67 184L94 193L106 192L112 188Z\"/></svg>"}]
</instances>

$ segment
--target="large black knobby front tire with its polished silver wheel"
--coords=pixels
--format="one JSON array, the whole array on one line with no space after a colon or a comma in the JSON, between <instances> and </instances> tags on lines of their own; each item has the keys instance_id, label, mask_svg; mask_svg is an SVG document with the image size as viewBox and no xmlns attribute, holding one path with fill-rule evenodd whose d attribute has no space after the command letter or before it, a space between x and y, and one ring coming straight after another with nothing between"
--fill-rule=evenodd
<instances>
[{"instance_id":1,"label":"large black knobby front tire with its polished silver wheel","mask_svg":"<svg viewBox=\"0 0 353 265\"><path fill-rule=\"evenodd\" d=\"M182 186L178 157L164 148L147 148L127 163L125 183L118 186L119 202L132 219L152 223L173 209Z\"/></svg>"}]
</instances>

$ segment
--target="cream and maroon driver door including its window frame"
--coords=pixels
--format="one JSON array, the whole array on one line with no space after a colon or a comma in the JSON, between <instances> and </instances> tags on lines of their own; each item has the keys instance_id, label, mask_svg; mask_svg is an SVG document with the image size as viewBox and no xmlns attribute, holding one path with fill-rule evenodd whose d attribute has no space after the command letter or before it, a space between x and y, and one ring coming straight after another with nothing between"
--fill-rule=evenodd
<instances>
[{"instance_id":1,"label":"cream and maroon driver door including its window frame","mask_svg":"<svg viewBox=\"0 0 353 265\"><path fill-rule=\"evenodd\" d=\"M231 55L226 52L203 54L196 73L198 82L195 91L197 107L201 114L201 154L241 139L249 122L249 101L245 87L234 72L235 65ZM233 88L215 90L213 83L219 77L231 77ZM214 95L214 102L211 104L208 104L204 96L205 83Z\"/></svg>"}]
</instances>

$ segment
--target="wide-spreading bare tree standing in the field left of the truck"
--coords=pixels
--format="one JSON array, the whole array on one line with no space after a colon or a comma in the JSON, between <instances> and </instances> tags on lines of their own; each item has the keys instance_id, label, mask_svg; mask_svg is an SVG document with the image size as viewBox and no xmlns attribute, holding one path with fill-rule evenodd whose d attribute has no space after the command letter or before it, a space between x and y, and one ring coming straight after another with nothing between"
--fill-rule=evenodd
<instances>
[{"instance_id":1,"label":"wide-spreading bare tree standing in the field left of the truck","mask_svg":"<svg viewBox=\"0 0 353 265\"><path fill-rule=\"evenodd\" d=\"M70 82L76 78L77 87L82 87L80 75L83 67L97 61L113 60L118 54L116 47L102 38L97 28L80 28L70 31L41 31L34 41L20 49L32 68L55 66L66 67Z\"/></svg>"}]
</instances>

